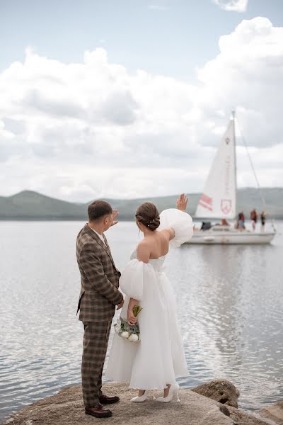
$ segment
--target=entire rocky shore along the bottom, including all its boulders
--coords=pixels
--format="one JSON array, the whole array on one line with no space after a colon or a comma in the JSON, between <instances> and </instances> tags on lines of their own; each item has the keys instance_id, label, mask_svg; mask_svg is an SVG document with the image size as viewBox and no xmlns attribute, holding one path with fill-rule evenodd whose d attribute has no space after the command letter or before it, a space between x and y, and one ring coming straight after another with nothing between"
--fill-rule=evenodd
<instances>
[{"instance_id":1,"label":"entire rocky shore along the bottom, including all its boulders","mask_svg":"<svg viewBox=\"0 0 283 425\"><path fill-rule=\"evenodd\" d=\"M248 414L238 409L237 388L228 380L212 380L192 390L180 390L180 403L158 403L152 394L143 403L130 403L136 395L127 385L103 385L107 395L119 395L110 407L113 416L103 419L113 425L283 425L283 400ZM156 396L161 392L156 391ZM81 386L67 387L56 395L25 407L4 421L4 425L83 425L101 419L84 414Z\"/></svg>"}]
</instances>

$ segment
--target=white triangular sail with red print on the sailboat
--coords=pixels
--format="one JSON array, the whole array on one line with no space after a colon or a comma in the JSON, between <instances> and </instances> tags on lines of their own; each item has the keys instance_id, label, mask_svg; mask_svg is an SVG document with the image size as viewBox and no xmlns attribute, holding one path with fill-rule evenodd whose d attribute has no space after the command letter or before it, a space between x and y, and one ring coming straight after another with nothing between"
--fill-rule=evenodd
<instances>
[{"instance_id":1,"label":"white triangular sail with red print on the sailboat","mask_svg":"<svg viewBox=\"0 0 283 425\"><path fill-rule=\"evenodd\" d=\"M195 212L196 217L234 218L236 216L236 152L234 120L221 139L204 192Z\"/></svg>"}]
</instances>

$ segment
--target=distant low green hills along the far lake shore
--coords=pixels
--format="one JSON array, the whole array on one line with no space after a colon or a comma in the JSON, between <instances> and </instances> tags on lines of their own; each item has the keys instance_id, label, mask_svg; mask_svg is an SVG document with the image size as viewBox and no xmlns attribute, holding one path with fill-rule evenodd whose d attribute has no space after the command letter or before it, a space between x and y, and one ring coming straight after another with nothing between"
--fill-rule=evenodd
<instances>
[{"instance_id":1,"label":"distant low green hills along the far lake shore","mask_svg":"<svg viewBox=\"0 0 283 425\"><path fill-rule=\"evenodd\" d=\"M276 218L283 218L283 188L262 188L267 203L267 211ZM178 196L139 198L129 200L105 199L120 212L120 220L133 220L137 206L146 200L156 204L158 210L173 208ZM194 215L200 193L188 194L188 212ZM91 203L91 200L90 202ZM13 196L0 196L0 220L86 220L87 205L70 203L50 198L33 191L23 191ZM238 208L248 218L252 208L262 210L258 190L243 188L238 190Z\"/></svg>"}]
</instances>

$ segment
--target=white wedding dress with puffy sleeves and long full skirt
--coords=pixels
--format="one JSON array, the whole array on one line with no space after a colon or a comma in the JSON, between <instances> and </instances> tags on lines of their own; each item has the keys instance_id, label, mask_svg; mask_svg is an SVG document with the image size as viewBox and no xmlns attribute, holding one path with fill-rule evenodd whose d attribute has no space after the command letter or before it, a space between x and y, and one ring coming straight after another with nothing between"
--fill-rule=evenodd
<instances>
[{"instance_id":1,"label":"white wedding dress with puffy sleeves and long full skirt","mask_svg":"<svg viewBox=\"0 0 283 425\"><path fill-rule=\"evenodd\" d=\"M158 230L171 227L175 231L170 248L192 237L192 218L186 212L164 210L160 219ZM120 278L120 288L126 295L121 317L127 319L130 297L139 300L143 309L138 315L141 341L130 342L115 334L105 376L129 382L130 388L162 390L176 377L189 374L175 295L164 272L165 259L162 256L143 263L137 260L135 250Z\"/></svg>"}]
</instances>

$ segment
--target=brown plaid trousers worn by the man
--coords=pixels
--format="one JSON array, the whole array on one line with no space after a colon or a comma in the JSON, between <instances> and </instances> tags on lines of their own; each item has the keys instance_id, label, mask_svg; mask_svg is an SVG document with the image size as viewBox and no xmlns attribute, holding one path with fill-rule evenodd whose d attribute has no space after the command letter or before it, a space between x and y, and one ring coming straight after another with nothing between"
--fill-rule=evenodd
<instances>
[{"instance_id":1,"label":"brown plaid trousers worn by the man","mask_svg":"<svg viewBox=\"0 0 283 425\"><path fill-rule=\"evenodd\" d=\"M83 322L83 358L81 362L81 384L83 402L86 407L97 407L102 395L102 373L105 362L111 320L105 322Z\"/></svg>"}]
</instances>

